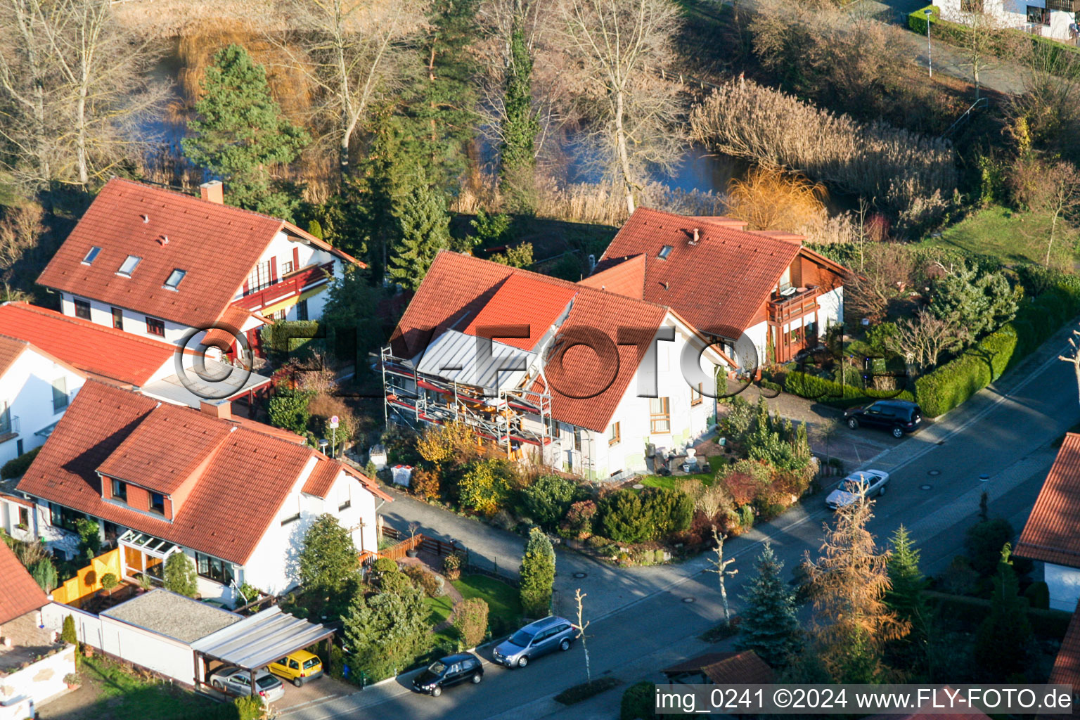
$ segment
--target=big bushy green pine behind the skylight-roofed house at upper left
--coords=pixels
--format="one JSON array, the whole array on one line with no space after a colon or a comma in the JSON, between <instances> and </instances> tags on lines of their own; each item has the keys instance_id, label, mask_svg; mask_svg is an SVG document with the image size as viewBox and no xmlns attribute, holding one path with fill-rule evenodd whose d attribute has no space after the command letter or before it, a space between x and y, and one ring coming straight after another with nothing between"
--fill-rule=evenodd
<instances>
[{"instance_id":1,"label":"big bushy green pine behind the skylight-roofed house at upper left","mask_svg":"<svg viewBox=\"0 0 1080 720\"><path fill-rule=\"evenodd\" d=\"M311 137L282 114L266 68L231 44L206 68L202 91L181 141L188 160L225 181L230 205L292 220L299 198L271 177L271 167L293 162Z\"/></svg>"}]
</instances>

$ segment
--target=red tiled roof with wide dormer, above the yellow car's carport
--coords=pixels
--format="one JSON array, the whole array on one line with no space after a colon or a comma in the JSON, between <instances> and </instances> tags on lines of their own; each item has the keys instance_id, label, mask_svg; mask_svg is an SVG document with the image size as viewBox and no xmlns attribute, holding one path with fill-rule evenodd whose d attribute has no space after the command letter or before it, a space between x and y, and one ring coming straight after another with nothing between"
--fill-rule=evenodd
<instances>
[{"instance_id":1,"label":"red tiled roof with wide dormer, above the yellow car's carport","mask_svg":"<svg viewBox=\"0 0 1080 720\"><path fill-rule=\"evenodd\" d=\"M214 447L206 438L220 431L211 432L212 425L225 429L224 439ZM190 494L172 521L102 499L97 475L102 467L123 467L131 475L125 479L134 485L177 487L167 472L146 466L156 452L163 458L161 464L175 463L178 475L185 470L197 473ZM307 446L248 425L89 381L30 464L18 490L244 563L264 534L275 529L282 503L312 459L319 473L324 472L320 464L345 466ZM372 490L370 485L365 487Z\"/></svg>"}]
</instances>

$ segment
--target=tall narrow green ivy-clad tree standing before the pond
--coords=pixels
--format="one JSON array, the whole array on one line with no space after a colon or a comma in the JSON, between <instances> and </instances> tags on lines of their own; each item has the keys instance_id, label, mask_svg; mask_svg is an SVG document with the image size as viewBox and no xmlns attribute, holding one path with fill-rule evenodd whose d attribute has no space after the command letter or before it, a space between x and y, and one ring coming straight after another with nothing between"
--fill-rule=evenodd
<instances>
[{"instance_id":1,"label":"tall narrow green ivy-clad tree standing before the pond","mask_svg":"<svg viewBox=\"0 0 1080 720\"><path fill-rule=\"evenodd\" d=\"M507 208L514 213L536 209L536 138L540 132L532 110L532 57L522 18L514 18L510 36L510 63L503 96L502 148L499 164Z\"/></svg>"}]
</instances>

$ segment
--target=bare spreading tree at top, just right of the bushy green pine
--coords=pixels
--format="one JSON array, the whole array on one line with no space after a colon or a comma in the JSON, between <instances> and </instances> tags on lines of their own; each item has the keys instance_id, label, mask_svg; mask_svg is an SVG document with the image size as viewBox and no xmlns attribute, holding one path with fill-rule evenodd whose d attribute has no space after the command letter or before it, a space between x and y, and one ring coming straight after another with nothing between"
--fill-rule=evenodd
<instances>
[{"instance_id":1,"label":"bare spreading tree at top, just right of the bushy green pine","mask_svg":"<svg viewBox=\"0 0 1080 720\"><path fill-rule=\"evenodd\" d=\"M393 91L403 40L423 24L423 0L282 0L292 31L269 36L326 96L341 175L374 100Z\"/></svg>"}]
</instances>

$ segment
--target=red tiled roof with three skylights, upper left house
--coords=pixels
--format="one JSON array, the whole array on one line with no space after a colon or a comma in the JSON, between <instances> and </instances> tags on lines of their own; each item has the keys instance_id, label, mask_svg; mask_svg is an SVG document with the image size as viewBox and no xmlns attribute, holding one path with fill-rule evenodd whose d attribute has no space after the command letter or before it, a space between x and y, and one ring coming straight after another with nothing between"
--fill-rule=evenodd
<instances>
[{"instance_id":1,"label":"red tiled roof with three skylights, upper left house","mask_svg":"<svg viewBox=\"0 0 1080 720\"><path fill-rule=\"evenodd\" d=\"M38 282L173 321L207 328L231 305L274 235L360 263L278 218L141 182L113 178L91 203ZM91 248L100 248L85 262ZM118 274L129 256L140 258L131 276ZM166 288L174 270L186 275Z\"/></svg>"}]
</instances>

